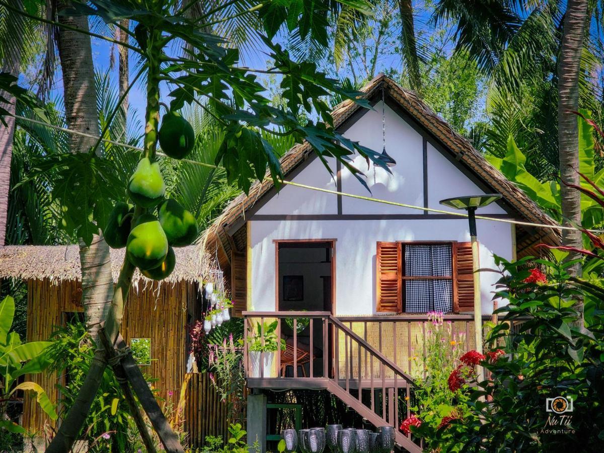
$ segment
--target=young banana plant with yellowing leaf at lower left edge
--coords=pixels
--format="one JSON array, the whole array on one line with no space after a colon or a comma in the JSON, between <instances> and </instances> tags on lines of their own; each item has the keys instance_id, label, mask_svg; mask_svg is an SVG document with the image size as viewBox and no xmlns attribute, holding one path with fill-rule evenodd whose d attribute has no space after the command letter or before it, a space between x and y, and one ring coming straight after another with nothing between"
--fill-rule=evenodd
<instances>
[{"instance_id":1,"label":"young banana plant with yellowing leaf at lower left edge","mask_svg":"<svg viewBox=\"0 0 604 453\"><path fill-rule=\"evenodd\" d=\"M19 334L11 332L14 318L14 300L7 296L0 302L0 429L25 434L26 431L7 417L7 406L17 399L18 391L33 391L42 410L52 419L57 419L54 405L48 395L36 382L21 382L17 379L24 374L41 373L50 364L45 350L48 341L24 343Z\"/></svg>"}]
</instances>

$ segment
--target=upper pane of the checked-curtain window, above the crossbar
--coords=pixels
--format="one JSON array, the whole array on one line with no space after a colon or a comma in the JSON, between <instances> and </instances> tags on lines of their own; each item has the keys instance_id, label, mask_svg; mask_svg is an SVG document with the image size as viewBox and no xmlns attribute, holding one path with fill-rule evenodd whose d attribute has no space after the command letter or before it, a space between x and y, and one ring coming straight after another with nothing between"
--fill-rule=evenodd
<instances>
[{"instance_id":1,"label":"upper pane of the checked-curtain window, above the crossbar","mask_svg":"<svg viewBox=\"0 0 604 453\"><path fill-rule=\"evenodd\" d=\"M405 244L407 277L451 277L451 244Z\"/></svg>"}]
</instances>

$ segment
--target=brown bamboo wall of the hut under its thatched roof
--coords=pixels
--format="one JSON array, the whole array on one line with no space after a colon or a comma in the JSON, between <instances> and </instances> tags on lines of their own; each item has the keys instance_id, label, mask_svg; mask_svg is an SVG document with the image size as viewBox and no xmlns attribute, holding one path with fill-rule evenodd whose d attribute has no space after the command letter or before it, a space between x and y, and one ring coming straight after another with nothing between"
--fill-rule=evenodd
<instances>
[{"instance_id":1,"label":"brown bamboo wall of the hut under its thatched roof","mask_svg":"<svg viewBox=\"0 0 604 453\"><path fill-rule=\"evenodd\" d=\"M79 281L28 281L28 341L47 340L56 326L63 324L63 313L82 312ZM142 366L145 374L157 379L153 387L158 397L176 407L187 361L187 314L193 312L196 302L194 284L153 284L148 288L133 287L124 313L122 335L130 338L150 338L150 365ZM57 376L50 373L34 374L27 379L42 385L51 401L59 393ZM160 404L161 405L161 404ZM43 429L49 420L40 410L35 398L27 395L24 401L24 427L30 432Z\"/></svg>"}]
</instances>

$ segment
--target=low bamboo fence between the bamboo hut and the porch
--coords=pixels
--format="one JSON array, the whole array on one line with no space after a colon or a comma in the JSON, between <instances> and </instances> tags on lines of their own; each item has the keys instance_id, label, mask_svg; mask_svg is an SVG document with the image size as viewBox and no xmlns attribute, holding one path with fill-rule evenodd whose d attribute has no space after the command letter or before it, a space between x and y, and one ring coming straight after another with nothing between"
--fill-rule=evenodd
<instances>
[{"instance_id":1,"label":"low bamboo fence between the bamboo hut and the porch","mask_svg":"<svg viewBox=\"0 0 604 453\"><path fill-rule=\"evenodd\" d=\"M208 435L222 437L226 442L228 426L235 423L228 419L228 403L220 400L210 381L210 373L193 373L188 377L184 429L188 432L190 446L204 447ZM242 422L239 420L239 423ZM245 429L245 423L242 424Z\"/></svg>"}]
</instances>

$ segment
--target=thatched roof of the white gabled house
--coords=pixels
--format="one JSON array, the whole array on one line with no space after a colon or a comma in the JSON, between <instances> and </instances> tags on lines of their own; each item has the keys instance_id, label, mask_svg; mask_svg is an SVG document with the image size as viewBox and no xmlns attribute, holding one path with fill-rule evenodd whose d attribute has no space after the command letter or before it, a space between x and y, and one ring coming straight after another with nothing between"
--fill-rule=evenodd
<instances>
[{"instance_id":1,"label":"thatched roof of the white gabled house","mask_svg":"<svg viewBox=\"0 0 604 453\"><path fill-rule=\"evenodd\" d=\"M449 124L435 114L419 96L410 90L402 88L394 80L381 74L371 80L361 91L363 98L370 99L381 93L382 86L385 95L390 97L406 112L413 120L417 121L429 134L431 134L442 145L451 150L455 158L469 167L480 179L492 190L501 193L503 200L513 208L519 217L529 222L557 225L558 223L544 213L539 206L530 199L519 187L506 179L499 170L495 169L482 155L474 149L472 144L459 133L455 132ZM359 104L350 100L338 104L332 112L333 125L336 129L362 109ZM314 152L309 143L297 144L290 149L280 160L283 173L287 179L299 164L313 156ZM267 176L270 176L267 172ZM273 187L271 180L256 181L249 189L249 194L241 194L234 199L216 219L212 227L207 231L207 240L213 242L217 237L225 236L231 227L245 220L248 211ZM550 228L539 232L542 240L549 243L559 243L560 235L556 230Z\"/></svg>"}]
</instances>

